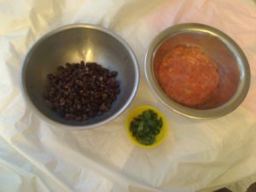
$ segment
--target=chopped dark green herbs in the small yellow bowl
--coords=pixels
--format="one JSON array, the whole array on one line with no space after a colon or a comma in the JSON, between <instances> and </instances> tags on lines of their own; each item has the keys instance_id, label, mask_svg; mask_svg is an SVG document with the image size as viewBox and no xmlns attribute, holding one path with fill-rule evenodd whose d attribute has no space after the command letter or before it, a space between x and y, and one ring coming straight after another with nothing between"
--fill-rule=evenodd
<instances>
[{"instance_id":1,"label":"chopped dark green herbs in the small yellow bowl","mask_svg":"<svg viewBox=\"0 0 256 192\"><path fill-rule=\"evenodd\" d=\"M139 143L151 145L155 142L155 137L160 133L162 126L163 119L149 109L132 119L130 130Z\"/></svg>"}]
</instances>

